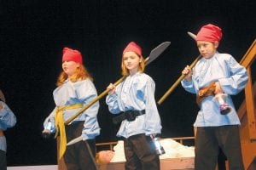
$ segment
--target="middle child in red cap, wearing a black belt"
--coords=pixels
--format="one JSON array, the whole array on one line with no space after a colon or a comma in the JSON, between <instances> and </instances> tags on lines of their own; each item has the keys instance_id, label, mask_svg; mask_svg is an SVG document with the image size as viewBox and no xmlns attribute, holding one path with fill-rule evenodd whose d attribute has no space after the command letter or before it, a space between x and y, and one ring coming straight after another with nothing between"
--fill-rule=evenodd
<instances>
[{"instance_id":1,"label":"middle child in red cap, wearing a black belt","mask_svg":"<svg viewBox=\"0 0 256 170\"><path fill-rule=\"evenodd\" d=\"M160 116L154 100L154 80L143 73L142 49L130 42L122 55L125 81L117 87L110 84L106 103L112 114L119 114L118 137L124 138L125 169L160 169L159 156L152 139L161 131Z\"/></svg>"}]
</instances>

